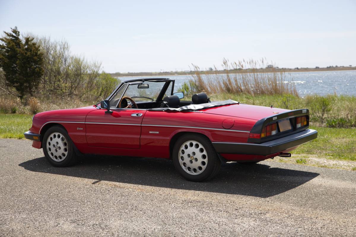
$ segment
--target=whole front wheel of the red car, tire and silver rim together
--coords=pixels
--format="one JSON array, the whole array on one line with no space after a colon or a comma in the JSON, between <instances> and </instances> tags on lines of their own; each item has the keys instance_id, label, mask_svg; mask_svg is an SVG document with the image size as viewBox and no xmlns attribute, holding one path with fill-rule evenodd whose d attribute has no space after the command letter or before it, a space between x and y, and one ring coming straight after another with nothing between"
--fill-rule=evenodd
<instances>
[{"instance_id":1,"label":"whole front wheel of the red car, tire and silver rim together","mask_svg":"<svg viewBox=\"0 0 356 237\"><path fill-rule=\"evenodd\" d=\"M71 166L77 162L73 142L61 126L52 126L46 131L42 147L47 161L55 167Z\"/></svg>"}]
</instances>

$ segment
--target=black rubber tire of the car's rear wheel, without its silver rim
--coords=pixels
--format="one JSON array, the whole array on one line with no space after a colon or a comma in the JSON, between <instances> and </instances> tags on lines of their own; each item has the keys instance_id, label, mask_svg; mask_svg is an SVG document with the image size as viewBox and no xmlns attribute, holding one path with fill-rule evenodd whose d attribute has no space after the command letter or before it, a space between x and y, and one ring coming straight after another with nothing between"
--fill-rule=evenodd
<instances>
[{"instance_id":1,"label":"black rubber tire of the car's rear wheel, without its silver rim","mask_svg":"<svg viewBox=\"0 0 356 237\"><path fill-rule=\"evenodd\" d=\"M180 163L179 163L179 155L178 155L179 149L183 145L184 142L189 141L189 140L197 141L201 145L203 145L204 149L208 155L208 162L207 162L205 170L197 175L188 174L187 172L184 171L184 169L180 166ZM209 177L211 176L211 174L214 171L214 168L216 165L216 159L219 159L219 158L214 150L214 147L211 145L211 142L208 138L206 138L203 135L187 134L187 135L181 136L177 140L176 144L174 144L172 159L173 159L174 167L185 179L187 179L189 181L200 182L200 181L209 179Z\"/></svg>"}]
</instances>

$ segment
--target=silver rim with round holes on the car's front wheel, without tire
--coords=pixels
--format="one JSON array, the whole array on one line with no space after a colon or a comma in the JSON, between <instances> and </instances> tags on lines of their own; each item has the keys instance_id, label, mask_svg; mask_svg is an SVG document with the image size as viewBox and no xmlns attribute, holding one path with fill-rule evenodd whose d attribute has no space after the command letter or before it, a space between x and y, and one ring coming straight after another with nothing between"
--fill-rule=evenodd
<instances>
[{"instance_id":1,"label":"silver rim with round holes on the car's front wheel, without tire","mask_svg":"<svg viewBox=\"0 0 356 237\"><path fill-rule=\"evenodd\" d=\"M55 132L47 138L47 153L56 162L64 161L68 156L68 142L63 134Z\"/></svg>"}]
</instances>

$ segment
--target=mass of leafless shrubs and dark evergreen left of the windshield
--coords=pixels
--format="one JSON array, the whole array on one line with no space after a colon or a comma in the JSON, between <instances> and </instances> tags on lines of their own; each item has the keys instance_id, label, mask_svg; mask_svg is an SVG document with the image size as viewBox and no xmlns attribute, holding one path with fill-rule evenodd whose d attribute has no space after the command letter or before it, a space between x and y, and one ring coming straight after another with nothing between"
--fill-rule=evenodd
<instances>
[{"instance_id":1,"label":"mass of leafless shrubs and dark evergreen left of the windshield","mask_svg":"<svg viewBox=\"0 0 356 237\"><path fill-rule=\"evenodd\" d=\"M0 89L21 99L105 98L118 81L100 70L100 63L73 55L66 41L21 37L17 27L0 38Z\"/></svg>"}]
</instances>

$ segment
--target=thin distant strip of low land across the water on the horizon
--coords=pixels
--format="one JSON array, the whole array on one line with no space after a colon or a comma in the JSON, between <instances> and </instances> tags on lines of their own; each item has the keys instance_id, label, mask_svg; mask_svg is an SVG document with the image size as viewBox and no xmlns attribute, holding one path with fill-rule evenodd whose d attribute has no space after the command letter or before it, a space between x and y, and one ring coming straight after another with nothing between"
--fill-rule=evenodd
<instances>
[{"instance_id":1,"label":"thin distant strip of low land across the water on the horizon","mask_svg":"<svg viewBox=\"0 0 356 237\"><path fill-rule=\"evenodd\" d=\"M356 67L330 67L330 68L271 68L271 69L257 69L256 72L310 72L310 71L350 71L356 70ZM230 73L248 73L251 69L230 70ZM225 70L219 71L199 71L200 74L225 74ZM191 76L194 71L189 72L130 72L130 73L110 73L112 77L136 77L136 76Z\"/></svg>"}]
</instances>

